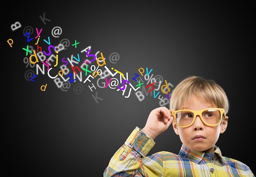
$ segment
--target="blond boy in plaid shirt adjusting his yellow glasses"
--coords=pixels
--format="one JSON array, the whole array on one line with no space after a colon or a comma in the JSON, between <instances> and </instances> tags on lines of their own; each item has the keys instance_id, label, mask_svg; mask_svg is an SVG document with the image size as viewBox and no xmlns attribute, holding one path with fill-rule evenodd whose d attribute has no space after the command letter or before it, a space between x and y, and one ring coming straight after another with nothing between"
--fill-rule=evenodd
<instances>
[{"instance_id":1,"label":"blond boy in plaid shirt adjusting his yellow glasses","mask_svg":"<svg viewBox=\"0 0 256 177\"><path fill-rule=\"evenodd\" d=\"M152 110L144 128L136 127L115 152L104 177L255 177L240 161L224 157L215 143L227 128L229 101L212 80L189 76L173 90L170 110ZM146 156L159 134L173 125L182 147L178 155L157 152Z\"/></svg>"}]
</instances>

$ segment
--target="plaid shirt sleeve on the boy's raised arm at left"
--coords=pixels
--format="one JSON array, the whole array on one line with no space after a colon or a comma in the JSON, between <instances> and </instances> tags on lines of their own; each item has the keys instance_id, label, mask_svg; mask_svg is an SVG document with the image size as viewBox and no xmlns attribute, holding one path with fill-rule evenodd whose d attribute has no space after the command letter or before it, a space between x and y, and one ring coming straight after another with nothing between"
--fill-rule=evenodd
<instances>
[{"instance_id":1,"label":"plaid shirt sleeve on the boy's raised arm at left","mask_svg":"<svg viewBox=\"0 0 256 177\"><path fill-rule=\"evenodd\" d=\"M155 164L157 162L153 160L151 163L146 157L154 145L153 139L136 127L110 159L103 177L142 177L148 176L148 172L159 176L159 172L154 172L155 166L159 164Z\"/></svg>"}]
</instances>

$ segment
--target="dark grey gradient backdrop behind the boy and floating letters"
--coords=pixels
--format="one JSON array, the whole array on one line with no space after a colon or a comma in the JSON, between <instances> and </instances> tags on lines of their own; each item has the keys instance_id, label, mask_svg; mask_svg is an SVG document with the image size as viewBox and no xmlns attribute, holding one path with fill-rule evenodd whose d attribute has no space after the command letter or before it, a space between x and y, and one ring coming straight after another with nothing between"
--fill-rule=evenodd
<instances>
[{"instance_id":1,"label":"dark grey gradient backdrop behind the boy and floating letters","mask_svg":"<svg viewBox=\"0 0 256 177\"><path fill-rule=\"evenodd\" d=\"M153 69L150 73L153 78L158 76L173 86L188 75L213 79L220 84L229 97L230 111L227 131L220 135L216 145L222 155L244 162L256 173L253 162L255 4L212 1L16 4L8 1L7 6L1 7L1 15L5 20L1 25L0 50L2 177L103 176L108 161L130 132L135 126L143 128L150 111L163 104L159 103L158 96L154 98L153 92L145 92L145 86L153 81L145 77L146 68L148 72ZM45 23L40 16L45 16ZM11 25L16 22L21 27L12 31ZM27 27L34 30L29 42L24 36ZM52 35L54 27L62 29L58 38ZM92 60L92 56L86 57L85 52L81 52L91 46L90 54L98 52L99 57L102 52L105 66L113 73L114 69L125 76L128 73L128 81L134 87L138 83L132 78L139 74L139 68L144 68L144 76L139 74L144 85L141 90L131 90L126 98L130 87L122 95L117 87L99 87L104 81L97 83L100 76L83 83L87 76L81 69L82 81L76 77L69 88L59 88L47 75L46 66L44 74L40 71L36 74L36 67L27 65L29 55L26 56L22 48L29 45L36 49L36 28L43 29L39 40L43 50L47 51L48 45L43 39L47 40L48 36L54 46L62 40L70 42L58 53L56 67L53 66L55 60L49 61L51 76L61 70L62 58L71 59L72 55L78 58L79 54L78 67L85 59ZM12 47L7 43L10 38ZM76 47L72 46L75 40L79 42ZM56 56L56 52L52 53ZM116 60L111 60L114 55ZM36 65L42 67L42 61ZM91 65L97 66L96 61L88 69ZM70 64L67 68L71 69ZM27 77L29 72L37 75L34 81ZM74 79L74 73L72 77ZM108 76L108 80L110 78ZM119 74L112 78L118 81ZM46 83L43 92L40 87ZM78 92L75 86L83 90ZM166 98L161 90L155 94L158 91ZM138 97L136 92L144 97ZM181 146L171 127L155 142L149 154L160 150L178 153Z\"/></svg>"}]
</instances>

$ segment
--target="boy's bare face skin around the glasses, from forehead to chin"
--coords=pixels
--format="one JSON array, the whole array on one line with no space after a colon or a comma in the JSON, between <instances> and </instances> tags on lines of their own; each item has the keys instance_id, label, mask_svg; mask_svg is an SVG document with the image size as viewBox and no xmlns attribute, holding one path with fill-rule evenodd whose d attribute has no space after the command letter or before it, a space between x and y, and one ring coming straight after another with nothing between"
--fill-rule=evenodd
<instances>
[{"instance_id":1,"label":"boy's bare face skin around the glasses, from forehead to chin","mask_svg":"<svg viewBox=\"0 0 256 177\"><path fill-rule=\"evenodd\" d=\"M182 105L181 109L203 110L207 108L216 108L216 105L205 102L197 96L191 97L187 105ZM205 125L199 116L195 122L186 128L178 127L173 121L173 130L180 136L181 142L189 149L195 151L214 152L215 143L218 141L220 133L225 132L227 128L227 119L224 117L222 123L216 126Z\"/></svg>"}]
</instances>

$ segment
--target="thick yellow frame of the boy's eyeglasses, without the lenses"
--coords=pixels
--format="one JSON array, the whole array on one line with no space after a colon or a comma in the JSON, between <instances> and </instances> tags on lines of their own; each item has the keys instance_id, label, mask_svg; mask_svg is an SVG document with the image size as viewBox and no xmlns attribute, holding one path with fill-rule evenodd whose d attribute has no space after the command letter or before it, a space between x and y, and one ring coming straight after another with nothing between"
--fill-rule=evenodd
<instances>
[{"instance_id":1,"label":"thick yellow frame of the boy's eyeglasses, without the lenses","mask_svg":"<svg viewBox=\"0 0 256 177\"><path fill-rule=\"evenodd\" d=\"M211 124L209 124L209 123L206 123L206 122L204 121L204 119L202 118L202 113L203 113L204 111L206 111L206 110L219 110L219 111L220 111L220 115L221 115L221 116L220 116L220 122L219 122L219 123L216 123L216 124L213 124L213 125L211 125ZM180 125L177 124L177 121L176 121L176 113L177 113L177 112L180 112L180 111L190 111L190 112L192 112L192 113L194 114L194 119L193 119L193 121L192 121L189 125L180 126ZM199 111L194 111L194 110L176 110L176 111L173 111L173 112L171 113L171 115L172 115L173 118L174 118L175 124L176 124L178 127L181 127L181 128L186 128L186 127L191 126L191 125L195 122L195 118L196 118L197 116L200 117L201 121L202 121L205 125L208 125L208 126L216 126L216 125L219 125L219 124L222 122L222 117L225 117L225 110L224 110L223 108L207 108L207 109L203 109L203 110L199 110Z\"/></svg>"}]
</instances>

